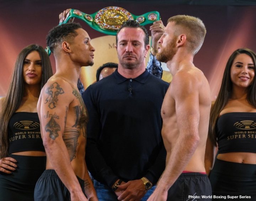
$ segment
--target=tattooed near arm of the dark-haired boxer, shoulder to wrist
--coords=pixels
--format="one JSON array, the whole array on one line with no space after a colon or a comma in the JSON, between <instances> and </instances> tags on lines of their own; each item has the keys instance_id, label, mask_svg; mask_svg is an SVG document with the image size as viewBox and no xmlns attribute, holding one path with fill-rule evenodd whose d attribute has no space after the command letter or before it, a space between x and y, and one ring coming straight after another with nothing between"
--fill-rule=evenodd
<instances>
[{"instance_id":1,"label":"tattooed near arm of the dark-haired boxer, shoulder to wrist","mask_svg":"<svg viewBox=\"0 0 256 201\"><path fill-rule=\"evenodd\" d=\"M43 87L37 110L41 134L47 154L47 169L54 169L68 188L71 200L87 200L71 166L70 156L63 140L67 107L73 101L72 88L64 80L48 80Z\"/></svg>"}]
</instances>

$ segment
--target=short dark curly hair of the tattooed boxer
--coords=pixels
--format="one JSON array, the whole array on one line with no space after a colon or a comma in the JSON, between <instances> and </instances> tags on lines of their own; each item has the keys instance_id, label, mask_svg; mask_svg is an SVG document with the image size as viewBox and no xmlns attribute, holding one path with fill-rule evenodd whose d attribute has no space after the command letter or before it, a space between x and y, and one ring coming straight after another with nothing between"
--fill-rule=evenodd
<instances>
[{"instance_id":1,"label":"short dark curly hair of the tattooed boxer","mask_svg":"<svg viewBox=\"0 0 256 201\"><path fill-rule=\"evenodd\" d=\"M73 40L78 35L75 30L79 28L82 28L81 25L74 22L52 28L46 36L46 44L50 51L54 52L54 49L64 40Z\"/></svg>"}]
</instances>

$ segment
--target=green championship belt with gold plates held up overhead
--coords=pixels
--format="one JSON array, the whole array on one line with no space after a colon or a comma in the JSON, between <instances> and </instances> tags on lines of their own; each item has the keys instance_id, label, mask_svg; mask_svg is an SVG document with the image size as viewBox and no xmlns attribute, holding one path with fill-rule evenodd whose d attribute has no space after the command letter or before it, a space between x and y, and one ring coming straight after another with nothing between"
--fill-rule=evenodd
<instances>
[{"instance_id":1,"label":"green championship belt with gold plates held up overhead","mask_svg":"<svg viewBox=\"0 0 256 201\"><path fill-rule=\"evenodd\" d=\"M158 11L147 12L143 15L136 16L124 8L117 6L102 8L90 15L76 9L71 9L68 18L66 18L63 23L67 23L69 19L73 17L81 19L91 28L107 35L116 35L117 30L121 27L123 22L128 19L133 19L141 25L150 24L160 19Z\"/></svg>"}]
</instances>

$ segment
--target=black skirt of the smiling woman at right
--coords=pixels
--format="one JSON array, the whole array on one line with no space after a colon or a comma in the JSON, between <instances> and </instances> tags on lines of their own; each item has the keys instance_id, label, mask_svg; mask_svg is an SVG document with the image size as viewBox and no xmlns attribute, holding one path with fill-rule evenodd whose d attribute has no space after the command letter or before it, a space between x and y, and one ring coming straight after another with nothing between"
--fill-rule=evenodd
<instances>
[{"instance_id":1,"label":"black skirt of the smiling woman at right","mask_svg":"<svg viewBox=\"0 0 256 201\"><path fill-rule=\"evenodd\" d=\"M216 160L210 172L213 198L238 196L238 200L256 200L256 165ZM247 197L242 197L247 196ZM249 197L250 196L250 197ZM225 197L222 197L224 200Z\"/></svg>"}]
</instances>

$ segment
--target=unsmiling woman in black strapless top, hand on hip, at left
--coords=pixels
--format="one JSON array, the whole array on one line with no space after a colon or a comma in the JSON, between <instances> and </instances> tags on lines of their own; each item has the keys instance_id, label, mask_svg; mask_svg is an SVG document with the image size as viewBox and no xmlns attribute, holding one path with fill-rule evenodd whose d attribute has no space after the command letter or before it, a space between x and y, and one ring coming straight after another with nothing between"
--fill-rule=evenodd
<instances>
[{"instance_id":1,"label":"unsmiling woman in black strapless top, hand on hip, at left","mask_svg":"<svg viewBox=\"0 0 256 201\"><path fill-rule=\"evenodd\" d=\"M52 76L43 47L29 45L17 57L6 97L0 99L0 200L32 201L46 167L37 101Z\"/></svg>"}]
</instances>

